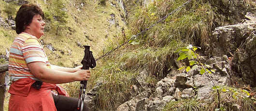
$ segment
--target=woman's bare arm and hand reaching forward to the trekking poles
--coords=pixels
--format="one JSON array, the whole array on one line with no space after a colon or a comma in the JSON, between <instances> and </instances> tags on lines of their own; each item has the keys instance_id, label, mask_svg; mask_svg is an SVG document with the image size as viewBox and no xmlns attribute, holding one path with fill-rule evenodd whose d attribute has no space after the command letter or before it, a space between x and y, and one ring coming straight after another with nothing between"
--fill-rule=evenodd
<instances>
[{"instance_id":1,"label":"woman's bare arm and hand reaching forward to the trekking poles","mask_svg":"<svg viewBox=\"0 0 256 111\"><path fill-rule=\"evenodd\" d=\"M69 83L73 81L87 81L90 70L77 69L75 72L66 72L58 69L49 69L43 62L28 63L31 73L45 83Z\"/></svg>"}]
</instances>

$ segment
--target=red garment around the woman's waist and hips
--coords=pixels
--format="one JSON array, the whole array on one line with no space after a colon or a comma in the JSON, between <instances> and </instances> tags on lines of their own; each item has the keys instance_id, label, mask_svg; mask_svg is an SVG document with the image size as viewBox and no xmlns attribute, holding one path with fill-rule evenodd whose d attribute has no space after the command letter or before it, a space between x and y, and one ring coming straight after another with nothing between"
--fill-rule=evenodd
<instances>
[{"instance_id":1,"label":"red garment around the woman's waist and hips","mask_svg":"<svg viewBox=\"0 0 256 111\"><path fill-rule=\"evenodd\" d=\"M12 83L9 89L9 111L57 111L52 90L59 95L69 97L68 93L57 84L43 83L39 90L31 84L35 81L24 78Z\"/></svg>"}]
</instances>

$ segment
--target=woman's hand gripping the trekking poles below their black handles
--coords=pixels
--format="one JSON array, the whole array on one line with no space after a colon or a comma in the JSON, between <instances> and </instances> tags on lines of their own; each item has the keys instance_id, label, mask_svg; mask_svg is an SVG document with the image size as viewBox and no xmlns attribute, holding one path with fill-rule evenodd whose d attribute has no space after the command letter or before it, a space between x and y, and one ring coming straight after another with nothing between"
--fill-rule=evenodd
<instances>
[{"instance_id":1,"label":"woman's hand gripping the trekking poles below their black handles","mask_svg":"<svg viewBox=\"0 0 256 111\"><path fill-rule=\"evenodd\" d=\"M75 72L77 81L88 81L91 77L90 70L79 69Z\"/></svg>"}]
</instances>

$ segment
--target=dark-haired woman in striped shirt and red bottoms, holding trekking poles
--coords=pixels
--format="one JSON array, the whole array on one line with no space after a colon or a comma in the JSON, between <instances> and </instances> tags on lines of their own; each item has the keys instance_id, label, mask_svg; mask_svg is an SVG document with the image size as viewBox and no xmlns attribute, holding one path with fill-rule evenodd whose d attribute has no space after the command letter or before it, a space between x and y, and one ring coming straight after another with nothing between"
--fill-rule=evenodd
<instances>
[{"instance_id":1,"label":"dark-haired woman in striped shirt and red bottoms, holding trekking poles","mask_svg":"<svg viewBox=\"0 0 256 111\"><path fill-rule=\"evenodd\" d=\"M64 68L49 63L38 40L45 26L39 6L23 4L15 22L18 36L9 57L8 72L12 80L9 111L75 111L78 99L68 97L56 83L87 81L90 71L82 70L81 66Z\"/></svg>"}]
</instances>

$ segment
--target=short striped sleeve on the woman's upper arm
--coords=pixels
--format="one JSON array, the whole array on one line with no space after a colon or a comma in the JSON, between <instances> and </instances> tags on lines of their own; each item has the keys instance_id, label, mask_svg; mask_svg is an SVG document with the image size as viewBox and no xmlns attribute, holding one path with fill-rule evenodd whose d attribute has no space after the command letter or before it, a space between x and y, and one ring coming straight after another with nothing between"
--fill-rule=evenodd
<instances>
[{"instance_id":1,"label":"short striped sleeve on the woman's upper arm","mask_svg":"<svg viewBox=\"0 0 256 111\"><path fill-rule=\"evenodd\" d=\"M25 41L22 47L22 53L27 64L31 62L47 62L43 47L36 38L28 38Z\"/></svg>"}]
</instances>

